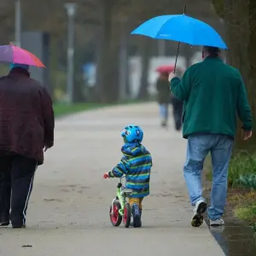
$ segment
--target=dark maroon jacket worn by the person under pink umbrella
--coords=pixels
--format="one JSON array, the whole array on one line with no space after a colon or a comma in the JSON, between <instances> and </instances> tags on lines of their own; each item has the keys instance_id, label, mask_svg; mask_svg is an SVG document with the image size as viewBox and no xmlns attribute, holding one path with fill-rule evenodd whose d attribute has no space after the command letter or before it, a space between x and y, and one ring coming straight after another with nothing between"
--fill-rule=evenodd
<instances>
[{"instance_id":1,"label":"dark maroon jacket worn by the person under pink umbrella","mask_svg":"<svg viewBox=\"0 0 256 256\"><path fill-rule=\"evenodd\" d=\"M38 81L20 67L0 78L0 156L21 154L42 165L54 128L52 101Z\"/></svg>"}]
</instances>

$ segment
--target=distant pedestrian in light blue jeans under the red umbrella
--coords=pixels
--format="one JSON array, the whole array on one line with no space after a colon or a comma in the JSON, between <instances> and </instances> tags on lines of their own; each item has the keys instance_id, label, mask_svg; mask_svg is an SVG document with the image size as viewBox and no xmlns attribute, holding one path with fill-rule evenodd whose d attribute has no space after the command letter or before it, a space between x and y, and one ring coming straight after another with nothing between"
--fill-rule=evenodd
<instances>
[{"instance_id":1,"label":"distant pedestrian in light blue jeans under the red umbrella","mask_svg":"<svg viewBox=\"0 0 256 256\"><path fill-rule=\"evenodd\" d=\"M168 122L168 107L171 100L170 84L168 82L169 73L160 73L156 82L157 102L160 107L160 124L165 127Z\"/></svg>"}]
</instances>

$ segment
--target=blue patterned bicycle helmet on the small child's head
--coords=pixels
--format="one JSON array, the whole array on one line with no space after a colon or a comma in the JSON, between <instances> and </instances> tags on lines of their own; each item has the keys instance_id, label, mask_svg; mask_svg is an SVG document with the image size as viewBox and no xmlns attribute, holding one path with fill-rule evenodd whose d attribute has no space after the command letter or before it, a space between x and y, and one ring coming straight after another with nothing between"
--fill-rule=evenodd
<instances>
[{"instance_id":1,"label":"blue patterned bicycle helmet on the small child's head","mask_svg":"<svg viewBox=\"0 0 256 256\"><path fill-rule=\"evenodd\" d=\"M126 125L121 132L125 143L142 143L143 129L137 125Z\"/></svg>"}]
</instances>

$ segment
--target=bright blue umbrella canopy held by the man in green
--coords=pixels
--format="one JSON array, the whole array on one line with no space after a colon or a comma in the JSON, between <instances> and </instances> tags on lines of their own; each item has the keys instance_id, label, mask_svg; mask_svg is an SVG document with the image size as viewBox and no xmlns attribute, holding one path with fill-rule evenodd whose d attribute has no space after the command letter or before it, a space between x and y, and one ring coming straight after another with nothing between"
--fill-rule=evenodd
<instances>
[{"instance_id":1,"label":"bright blue umbrella canopy held by the man in green","mask_svg":"<svg viewBox=\"0 0 256 256\"><path fill-rule=\"evenodd\" d=\"M188 15L161 15L138 26L131 34L149 38L173 40L196 46L228 49L224 40L212 26Z\"/></svg>"}]
</instances>

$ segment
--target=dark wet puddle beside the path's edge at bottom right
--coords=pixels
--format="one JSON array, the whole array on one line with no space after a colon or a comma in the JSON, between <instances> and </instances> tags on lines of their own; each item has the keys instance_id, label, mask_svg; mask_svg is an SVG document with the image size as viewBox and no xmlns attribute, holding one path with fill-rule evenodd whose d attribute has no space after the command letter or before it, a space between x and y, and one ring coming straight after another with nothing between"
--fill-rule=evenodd
<instances>
[{"instance_id":1,"label":"dark wet puddle beside the path's edge at bottom right","mask_svg":"<svg viewBox=\"0 0 256 256\"><path fill-rule=\"evenodd\" d=\"M253 230L244 223L227 221L223 229L211 227L210 230L226 256L256 255L256 236L253 236Z\"/></svg>"}]
</instances>

